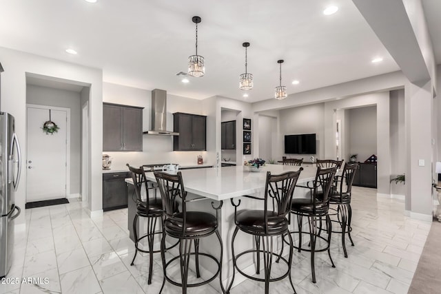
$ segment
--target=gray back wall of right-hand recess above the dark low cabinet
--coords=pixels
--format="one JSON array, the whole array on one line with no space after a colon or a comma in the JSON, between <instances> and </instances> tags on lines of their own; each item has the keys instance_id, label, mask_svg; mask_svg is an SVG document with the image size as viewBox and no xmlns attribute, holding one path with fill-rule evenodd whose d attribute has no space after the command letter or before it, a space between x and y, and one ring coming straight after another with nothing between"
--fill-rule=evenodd
<instances>
[{"instance_id":1,"label":"gray back wall of right-hand recess above the dark low cabinet","mask_svg":"<svg viewBox=\"0 0 441 294\"><path fill-rule=\"evenodd\" d=\"M363 162L377 154L377 107L349 109L349 156L358 154Z\"/></svg>"}]
</instances>

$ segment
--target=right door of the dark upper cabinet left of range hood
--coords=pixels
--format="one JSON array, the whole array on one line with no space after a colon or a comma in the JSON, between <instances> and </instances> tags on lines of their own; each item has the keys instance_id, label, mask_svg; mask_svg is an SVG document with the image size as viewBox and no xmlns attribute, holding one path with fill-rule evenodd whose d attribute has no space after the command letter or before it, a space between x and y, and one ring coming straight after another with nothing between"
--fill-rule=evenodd
<instances>
[{"instance_id":1,"label":"right door of the dark upper cabinet left of range hood","mask_svg":"<svg viewBox=\"0 0 441 294\"><path fill-rule=\"evenodd\" d=\"M123 107L123 149L143 151L143 109Z\"/></svg>"}]
</instances>

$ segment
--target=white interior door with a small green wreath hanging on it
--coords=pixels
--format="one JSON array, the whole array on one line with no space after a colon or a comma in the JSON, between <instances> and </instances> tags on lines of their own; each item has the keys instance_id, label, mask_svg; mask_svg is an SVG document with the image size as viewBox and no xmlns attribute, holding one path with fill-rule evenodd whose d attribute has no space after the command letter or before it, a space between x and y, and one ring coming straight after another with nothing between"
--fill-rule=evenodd
<instances>
[{"instance_id":1,"label":"white interior door with a small green wreath hanging on it","mask_svg":"<svg viewBox=\"0 0 441 294\"><path fill-rule=\"evenodd\" d=\"M58 132L45 134L49 120ZM68 114L63 110L28 107L26 202L66 197Z\"/></svg>"}]
</instances>

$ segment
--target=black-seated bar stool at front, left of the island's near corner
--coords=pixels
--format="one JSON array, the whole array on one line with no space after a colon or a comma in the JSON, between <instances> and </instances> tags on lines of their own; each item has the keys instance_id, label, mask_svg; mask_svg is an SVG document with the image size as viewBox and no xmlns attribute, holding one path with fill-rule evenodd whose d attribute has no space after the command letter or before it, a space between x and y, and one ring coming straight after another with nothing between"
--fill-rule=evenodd
<instances>
[{"instance_id":1,"label":"black-seated bar stool at front, left of the island's near corner","mask_svg":"<svg viewBox=\"0 0 441 294\"><path fill-rule=\"evenodd\" d=\"M161 293L163 291L165 280L174 284L175 286L180 286L182 288L182 293L187 293L187 288L196 287L212 282L218 275L220 280L220 288L222 292L225 293L225 289L222 284L222 256L223 256L223 244L222 239L218 231L218 210L222 207L222 202L218 207L214 207L214 202L212 202L213 209L216 210L216 216L211 213L201 212L201 211L187 211L187 203L201 198L196 198L192 200L187 200L187 192L185 191L181 171L176 173L170 173L163 171L158 171L154 173L156 182L158 183L159 191L161 192L161 198L164 207L164 229L163 238L161 240L161 258L163 262L164 279L163 285L161 286ZM178 205L178 200L181 200L182 212L176 211L174 207ZM209 235L216 234L219 245L220 245L220 258L217 260L213 255L207 253L199 252L199 242L201 238L208 237ZM177 238L179 242L179 256L176 256L169 260L165 260L165 236L170 235L173 238ZM192 242L195 246L195 252L191 252ZM205 256L213 260L218 269L212 277L203 282L188 284L188 273L189 273L189 259L194 255L196 261L196 277L200 277L199 273L199 257ZM172 280L171 277L167 275L167 267L180 258L181 261L181 282L176 282Z\"/></svg>"}]
</instances>

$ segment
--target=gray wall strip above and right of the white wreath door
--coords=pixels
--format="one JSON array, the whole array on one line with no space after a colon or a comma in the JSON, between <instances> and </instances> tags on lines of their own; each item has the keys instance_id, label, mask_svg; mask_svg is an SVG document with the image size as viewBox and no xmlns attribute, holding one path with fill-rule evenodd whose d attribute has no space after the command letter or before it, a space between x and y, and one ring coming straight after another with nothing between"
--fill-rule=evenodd
<instances>
[{"instance_id":1,"label":"gray wall strip above and right of the white wreath door","mask_svg":"<svg viewBox=\"0 0 441 294\"><path fill-rule=\"evenodd\" d=\"M26 85L26 103L70 109L70 194L80 191L81 109L80 93Z\"/></svg>"}]
</instances>

